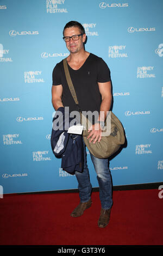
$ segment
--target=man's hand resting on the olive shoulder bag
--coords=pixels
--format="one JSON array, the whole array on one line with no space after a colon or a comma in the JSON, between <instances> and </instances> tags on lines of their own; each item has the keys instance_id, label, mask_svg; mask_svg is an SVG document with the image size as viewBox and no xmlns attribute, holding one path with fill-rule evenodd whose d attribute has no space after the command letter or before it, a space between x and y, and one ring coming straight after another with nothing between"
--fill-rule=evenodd
<instances>
[{"instance_id":1,"label":"man's hand resting on the olive shoulder bag","mask_svg":"<svg viewBox=\"0 0 163 256\"><path fill-rule=\"evenodd\" d=\"M90 139L90 143L93 141L93 144L95 144L97 141L100 142L102 138L102 129L100 124L93 124L88 130L89 136L87 136L87 139Z\"/></svg>"}]
</instances>

